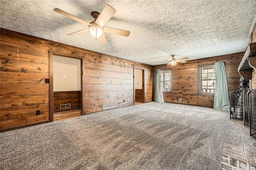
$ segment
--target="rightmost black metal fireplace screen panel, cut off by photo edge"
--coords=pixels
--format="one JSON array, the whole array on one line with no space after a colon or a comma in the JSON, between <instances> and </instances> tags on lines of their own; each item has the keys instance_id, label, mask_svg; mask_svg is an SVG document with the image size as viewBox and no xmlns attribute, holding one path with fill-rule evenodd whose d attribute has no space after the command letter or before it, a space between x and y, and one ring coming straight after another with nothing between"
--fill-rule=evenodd
<instances>
[{"instance_id":1,"label":"rightmost black metal fireplace screen panel, cut off by photo edge","mask_svg":"<svg viewBox=\"0 0 256 170\"><path fill-rule=\"evenodd\" d=\"M248 92L250 136L256 140L256 89Z\"/></svg>"}]
</instances>

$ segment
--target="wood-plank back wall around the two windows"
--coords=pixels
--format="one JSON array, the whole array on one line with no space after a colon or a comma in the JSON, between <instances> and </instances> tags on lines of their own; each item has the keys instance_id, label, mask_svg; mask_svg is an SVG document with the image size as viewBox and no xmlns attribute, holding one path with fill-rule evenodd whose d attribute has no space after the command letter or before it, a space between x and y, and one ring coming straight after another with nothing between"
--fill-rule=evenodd
<instances>
[{"instance_id":1,"label":"wood-plank back wall around the two windows","mask_svg":"<svg viewBox=\"0 0 256 170\"><path fill-rule=\"evenodd\" d=\"M191 60L186 63L171 65L156 65L153 67L153 101L155 95L155 81L157 69L172 69L172 93L164 93L164 101L167 103L179 103L202 107L213 107L214 96L198 95L198 65L214 64L224 61L228 81L228 91L237 89L240 75L237 68L244 53L221 55L206 59ZM185 99L185 103L178 102L178 98Z\"/></svg>"}]
</instances>

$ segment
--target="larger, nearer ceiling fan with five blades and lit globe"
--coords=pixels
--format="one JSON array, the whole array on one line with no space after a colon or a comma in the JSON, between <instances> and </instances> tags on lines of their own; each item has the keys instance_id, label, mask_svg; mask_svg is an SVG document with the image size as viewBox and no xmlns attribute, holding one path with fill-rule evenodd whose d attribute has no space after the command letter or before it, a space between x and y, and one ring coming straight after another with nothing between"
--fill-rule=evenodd
<instances>
[{"instance_id":1,"label":"larger, nearer ceiling fan with five blades and lit globe","mask_svg":"<svg viewBox=\"0 0 256 170\"><path fill-rule=\"evenodd\" d=\"M108 20L112 16L114 16L114 14L116 13L116 10L114 10L114 8L112 8L108 4L106 4L106 6L103 8L101 13L96 12L96 11L91 12L91 16L94 18L94 21L92 21L90 23L86 22L80 18L77 18L76 16L73 16L65 11L62 11L58 8L55 8L54 11L88 26L88 28L86 28L84 30L80 30L80 31L68 34L69 36L75 36L77 34L81 34L81 33L90 31L90 33L95 38L95 40L97 40L97 38L98 38L100 43L104 44L104 43L107 43L107 41L106 41L105 37L103 36L102 32L106 32L106 33L110 33L110 34L117 34L117 35L126 36L126 37L128 37L130 35L130 31L104 27L106 22L108 22Z\"/></svg>"}]
</instances>

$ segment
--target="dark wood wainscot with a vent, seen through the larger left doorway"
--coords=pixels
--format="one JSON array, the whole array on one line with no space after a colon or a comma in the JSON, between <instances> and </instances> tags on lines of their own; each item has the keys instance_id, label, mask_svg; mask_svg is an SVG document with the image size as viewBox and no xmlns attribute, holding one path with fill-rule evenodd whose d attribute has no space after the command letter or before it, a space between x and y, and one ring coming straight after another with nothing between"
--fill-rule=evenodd
<instances>
[{"instance_id":1,"label":"dark wood wainscot with a vent, seen through the larger left doorway","mask_svg":"<svg viewBox=\"0 0 256 170\"><path fill-rule=\"evenodd\" d=\"M54 111L64 111L60 105L70 103L70 109L81 108L81 91L54 91L53 103Z\"/></svg>"}]
</instances>

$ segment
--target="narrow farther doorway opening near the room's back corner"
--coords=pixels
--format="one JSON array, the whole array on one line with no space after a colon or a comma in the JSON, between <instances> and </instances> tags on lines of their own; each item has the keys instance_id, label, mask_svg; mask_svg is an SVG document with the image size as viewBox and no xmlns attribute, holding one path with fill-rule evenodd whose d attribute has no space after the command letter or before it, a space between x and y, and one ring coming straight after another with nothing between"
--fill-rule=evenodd
<instances>
[{"instance_id":1,"label":"narrow farther doorway opening near the room's back corner","mask_svg":"<svg viewBox=\"0 0 256 170\"><path fill-rule=\"evenodd\" d=\"M134 68L134 97L135 105L145 103L144 69Z\"/></svg>"}]
</instances>

